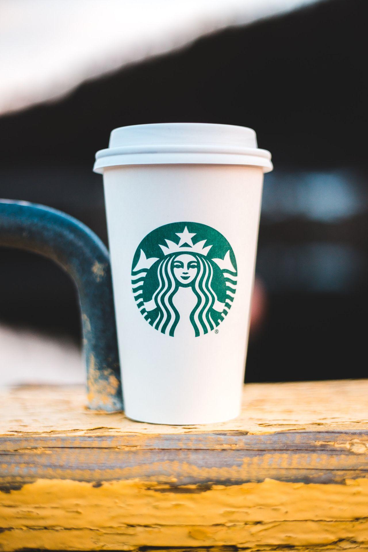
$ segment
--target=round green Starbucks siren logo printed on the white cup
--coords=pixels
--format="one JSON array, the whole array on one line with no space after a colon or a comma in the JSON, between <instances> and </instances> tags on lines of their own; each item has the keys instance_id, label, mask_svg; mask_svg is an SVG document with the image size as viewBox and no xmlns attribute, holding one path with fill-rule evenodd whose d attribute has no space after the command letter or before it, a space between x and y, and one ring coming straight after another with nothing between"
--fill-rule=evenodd
<instances>
[{"instance_id":1,"label":"round green Starbucks siren logo printed on the white cup","mask_svg":"<svg viewBox=\"0 0 368 552\"><path fill-rule=\"evenodd\" d=\"M220 232L198 222L173 222L138 245L132 291L155 330L198 337L216 330L226 318L237 275L234 252Z\"/></svg>"}]
</instances>

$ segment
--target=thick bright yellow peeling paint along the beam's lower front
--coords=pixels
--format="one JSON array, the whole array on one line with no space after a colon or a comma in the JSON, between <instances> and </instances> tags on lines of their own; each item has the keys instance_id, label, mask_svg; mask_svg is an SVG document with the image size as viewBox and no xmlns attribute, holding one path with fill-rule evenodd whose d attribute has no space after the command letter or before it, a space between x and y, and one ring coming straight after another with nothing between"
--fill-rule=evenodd
<instances>
[{"instance_id":1,"label":"thick bright yellow peeling paint along the beam's lower front","mask_svg":"<svg viewBox=\"0 0 368 552\"><path fill-rule=\"evenodd\" d=\"M266 479L180 492L152 481L39 479L0 494L0 550L139 546L368 546L368 480ZM343 544L342 544L343 543ZM363 548L361 548L363 549Z\"/></svg>"}]
</instances>

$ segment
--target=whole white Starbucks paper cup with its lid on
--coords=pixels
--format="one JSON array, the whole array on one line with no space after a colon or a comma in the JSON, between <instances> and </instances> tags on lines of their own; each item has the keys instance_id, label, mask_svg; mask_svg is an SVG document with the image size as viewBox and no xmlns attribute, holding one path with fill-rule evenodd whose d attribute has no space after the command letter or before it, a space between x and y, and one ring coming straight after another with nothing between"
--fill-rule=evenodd
<instances>
[{"instance_id":1,"label":"whole white Starbucks paper cup with its lid on","mask_svg":"<svg viewBox=\"0 0 368 552\"><path fill-rule=\"evenodd\" d=\"M118 128L97 152L132 420L238 416L270 158L251 129L197 123Z\"/></svg>"}]
</instances>

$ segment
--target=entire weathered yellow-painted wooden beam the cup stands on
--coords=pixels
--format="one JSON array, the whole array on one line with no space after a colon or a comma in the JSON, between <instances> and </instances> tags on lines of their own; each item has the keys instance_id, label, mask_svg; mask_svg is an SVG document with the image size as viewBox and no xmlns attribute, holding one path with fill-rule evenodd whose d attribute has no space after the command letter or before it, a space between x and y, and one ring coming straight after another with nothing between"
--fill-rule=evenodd
<instances>
[{"instance_id":1,"label":"entire weathered yellow-painted wooden beam the cup stands on","mask_svg":"<svg viewBox=\"0 0 368 552\"><path fill-rule=\"evenodd\" d=\"M368 380L248 384L206 426L85 400L0 391L0 550L368 550Z\"/></svg>"}]
</instances>

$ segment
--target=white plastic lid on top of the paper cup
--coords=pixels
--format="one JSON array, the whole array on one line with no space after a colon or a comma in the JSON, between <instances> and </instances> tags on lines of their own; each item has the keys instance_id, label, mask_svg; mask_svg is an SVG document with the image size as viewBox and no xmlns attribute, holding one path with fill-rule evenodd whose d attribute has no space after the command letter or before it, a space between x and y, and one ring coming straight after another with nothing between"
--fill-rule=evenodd
<instances>
[{"instance_id":1,"label":"white plastic lid on top of the paper cup","mask_svg":"<svg viewBox=\"0 0 368 552\"><path fill-rule=\"evenodd\" d=\"M121 126L106 150L96 153L94 172L119 165L196 163L235 164L272 171L271 154L257 147L246 126L159 123Z\"/></svg>"}]
</instances>

